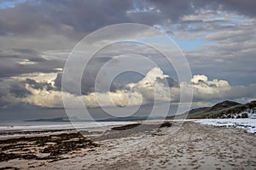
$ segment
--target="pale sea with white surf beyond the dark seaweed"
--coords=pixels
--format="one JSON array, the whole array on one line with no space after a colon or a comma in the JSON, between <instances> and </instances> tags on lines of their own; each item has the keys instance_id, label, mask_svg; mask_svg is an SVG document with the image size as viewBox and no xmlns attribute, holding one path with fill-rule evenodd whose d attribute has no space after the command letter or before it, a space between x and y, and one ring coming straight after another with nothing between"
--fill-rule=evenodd
<instances>
[{"instance_id":1,"label":"pale sea with white surf beyond the dark seaweed","mask_svg":"<svg viewBox=\"0 0 256 170\"><path fill-rule=\"evenodd\" d=\"M29 135L63 133L65 130L81 130L122 126L137 122L0 122L0 139Z\"/></svg>"}]
</instances>

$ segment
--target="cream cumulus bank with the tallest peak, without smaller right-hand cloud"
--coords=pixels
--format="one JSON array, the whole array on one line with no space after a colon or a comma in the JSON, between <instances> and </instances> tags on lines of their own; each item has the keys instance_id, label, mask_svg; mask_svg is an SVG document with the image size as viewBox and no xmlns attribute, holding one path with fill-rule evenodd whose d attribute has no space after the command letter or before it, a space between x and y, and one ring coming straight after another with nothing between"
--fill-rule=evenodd
<instances>
[{"instance_id":1,"label":"cream cumulus bank with the tallest peak, without smaller right-hand cloud","mask_svg":"<svg viewBox=\"0 0 256 170\"><path fill-rule=\"evenodd\" d=\"M163 79L169 78L164 75L160 68L154 68L148 71L148 74L137 83L129 83L124 86L123 89L115 90L114 92L92 92L90 94L82 95L84 105L88 107L98 106L132 106L132 105L147 105L152 104L154 99L157 101L170 101L169 85L166 81L164 84ZM170 79L169 79L170 80ZM170 81L169 81L170 82ZM177 85L177 82L172 80L172 83ZM33 85L34 83L32 83ZM41 83L38 83L41 84ZM166 86L167 85L167 86ZM163 91L164 90L164 91ZM32 105L50 106L50 107L61 107L61 91L47 91L42 89L31 88L32 94L29 98L23 99ZM76 94L68 94L65 92L64 95L76 105L78 97ZM100 105L98 104L100 102Z\"/></svg>"}]
</instances>

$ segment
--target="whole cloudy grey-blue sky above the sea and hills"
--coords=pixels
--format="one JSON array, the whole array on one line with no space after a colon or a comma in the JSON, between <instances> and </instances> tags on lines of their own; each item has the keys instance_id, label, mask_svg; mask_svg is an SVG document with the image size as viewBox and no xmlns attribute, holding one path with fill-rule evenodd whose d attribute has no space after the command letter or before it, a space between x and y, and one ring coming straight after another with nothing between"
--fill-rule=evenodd
<instances>
[{"instance_id":1,"label":"whole cloudy grey-blue sky above the sea and hills","mask_svg":"<svg viewBox=\"0 0 256 170\"><path fill-rule=\"evenodd\" d=\"M173 114L181 91L189 95L186 89L193 90L193 108L256 99L255 7L253 0L0 0L0 119L66 116L63 95L74 108L82 99L90 116L98 118L147 115L154 104L164 115L161 105L172 105L168 114ZM64 66L77 44L121 23L152 26L171 37L189 64L190 77L179 80L176 67L183 65L170 65L145 44L118 42L90 59L79 83L70 76L63 88ZM150 37L170 48L150 31L124 28L84 43L91 48L83 57L119 37ZM74 70L82 60L77 59ZM116 74L120 68L127 71ZM108 82L108 89L101 89Z\"/></svg>"}]
</instances>

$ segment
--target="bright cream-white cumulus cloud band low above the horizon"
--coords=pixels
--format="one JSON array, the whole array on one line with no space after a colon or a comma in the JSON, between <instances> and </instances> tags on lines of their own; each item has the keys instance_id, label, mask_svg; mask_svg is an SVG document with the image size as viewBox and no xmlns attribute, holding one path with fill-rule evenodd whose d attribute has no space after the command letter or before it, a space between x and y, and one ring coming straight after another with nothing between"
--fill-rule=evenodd
<instances>
[{"instance_id":1,"label":"bright cream-white cumulus cloud band low above the horizon","mask_svg":"<svg viewBox=\"0 0 256 170\"><path fill-rule=\"evenodd\" d=\"M189 93L189 88L193 88L194 102L211 102L214 99L242 99L255 98L256 84L246 86L231 86L226 80L209 80L205 75L195 75L190 82L179 82L179 86L169 86L163 80L170 78L165 75L160 68L153 68L136 83L128 83L122 89L114 92L92 92L82 95L84 105L88 107L99 106L133 106L150 105L157 102L179 102L180 89L183 93ZM159 81L161 80L161 81ZM26 87L32 95L22 98L23 102L43 107L63 107L61 91L34 89ZM74 107L81 99L80 96L63 92Z\"/></svg>"}]
</instances>

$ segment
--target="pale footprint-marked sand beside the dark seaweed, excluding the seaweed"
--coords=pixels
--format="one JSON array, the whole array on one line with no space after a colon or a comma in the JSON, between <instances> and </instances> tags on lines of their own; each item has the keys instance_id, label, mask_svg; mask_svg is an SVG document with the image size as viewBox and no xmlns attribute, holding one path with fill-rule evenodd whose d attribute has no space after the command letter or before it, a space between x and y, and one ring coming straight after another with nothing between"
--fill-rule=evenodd
<instances>
[{"instance_id":1,"label":"pale footprint-marked sand beside the dark seaweed, excluding the seaweed","mask_svg":"<svg viewBox=\"0 0 256 170\"><path fill-rule=\"evenodd\" d=\"M99 147L63 154L66 159L14 159L0 169L256 169L256 135L238 128L185 122L174 135L162 127L105 136L95 138Z\"/></svg>"}]
</instances>

